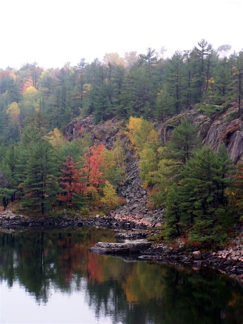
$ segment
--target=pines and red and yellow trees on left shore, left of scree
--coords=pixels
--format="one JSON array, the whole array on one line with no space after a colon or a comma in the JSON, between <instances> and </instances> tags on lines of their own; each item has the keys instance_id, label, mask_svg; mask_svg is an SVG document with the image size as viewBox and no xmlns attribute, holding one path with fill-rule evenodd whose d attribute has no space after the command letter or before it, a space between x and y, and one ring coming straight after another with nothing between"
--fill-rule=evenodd
<instances>
[{"instance_id":1,"label":"pines and red and yellow trees on left shore, left of scree","mask_svg":"<svg viewBox=\"0 0 243 324\"><path fill-rule=\"evenodd\" d=\"M37 110L28 118L21 140L0 146L0 196L4 209L16 198L25 212L46 214L68 208L87 214L118 204L115 188L123 174L120 148L92 146L89 136L67 141L55 128L46 130ZM118 142L117 142L118 143Z\"/></svg>"}]
</instances>

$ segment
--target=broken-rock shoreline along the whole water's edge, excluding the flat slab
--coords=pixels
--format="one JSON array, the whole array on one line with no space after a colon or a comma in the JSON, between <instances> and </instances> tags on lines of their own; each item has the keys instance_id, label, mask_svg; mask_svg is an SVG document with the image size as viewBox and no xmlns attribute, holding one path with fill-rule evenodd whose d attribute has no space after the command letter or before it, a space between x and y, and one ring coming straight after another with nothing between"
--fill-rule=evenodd
<instances>
[{"instance_id":1,"label":"broken-rock shoreline along the whole water's edge, excluding the flat slab","mask_svg":"<svg viewBox=\"0 0 243 324\"><path fill-rule=\"evenodd\" d=\"M116 217L114 217L116 216ZM116 233L115 237L119 241L145 239L147 230L155 231L155 224L143 218L136 218L136 215L128 218L125 215L114 215L94 218L82 217L26 217L15 215L11 210L0 214L0 229L19 229L19 228L78 228L83 226L100 226L107 229L122 230ZM142 230L142 231L140 231ZM187 251L183 242L178 241L178 247L172 248L166 244L156 246L148 245L148 249L140 251L138 257L144 260L156 260L172 264L191 264L194 270L200 267L211 267L221 272L225 272L231 277L243 281L243 230L234 239L230 248L217 252ZM149 247L150 246L150 247ZM109 252L108 252L109 253ZM116 254L111 253L111 254ZM119 254L130 254L129 249L120 251Z\"/></svg>"}]
</instances>

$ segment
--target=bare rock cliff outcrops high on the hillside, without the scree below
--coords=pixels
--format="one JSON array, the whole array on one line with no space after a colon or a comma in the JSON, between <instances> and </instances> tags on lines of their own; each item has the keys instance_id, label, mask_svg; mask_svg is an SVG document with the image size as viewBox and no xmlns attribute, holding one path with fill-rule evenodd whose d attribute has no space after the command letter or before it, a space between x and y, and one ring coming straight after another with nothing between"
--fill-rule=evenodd
<instances>
[{"instance_id":1,"label":"bare rock cliff outcrops high on the hillside, without the scree below","mask_svg":"<svg viewBox=\"0 0 243 324\"><path fill-rule=\"evenodd\" d=\"M179 125L180 120L191 118L193 124L198 126L198 134L203 144L218 151L220 145L224 143L230 158L234 163L239 163L243 154L243 122L238 118L229 120L229 115L236 111L237 105L232 104L226 111L210 118L195 109L191 109L167 119L164 123L155 121L155 126L159 130L160 137L165 145L170 139L173 129ZM122 125L123 122L117 118L95 125L93 116L89 115L83 119L76 118L69 123L65 135L68 140L71 140L90 134L94 143L103 143L109 149L112 147Z\"/></svg>"}]
</instances>

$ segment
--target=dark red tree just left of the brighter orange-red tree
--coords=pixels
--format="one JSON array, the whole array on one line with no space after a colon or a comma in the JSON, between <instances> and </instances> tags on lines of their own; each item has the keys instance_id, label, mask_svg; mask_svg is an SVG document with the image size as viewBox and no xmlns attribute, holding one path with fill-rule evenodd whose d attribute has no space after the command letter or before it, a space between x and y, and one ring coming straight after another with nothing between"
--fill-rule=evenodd
<instances>
[{"instance_id":1,"label":"dark red tree just left of the brighter orange-red tree","mask_svg":"<svg viewBox=\"0 0 243 324\"><path fill-rule=\"evenodd\" d=\"M69 208L84 202L85 174L82 168L74 163L72 157L66 157L60 177L60 187L63 193L57 195L57 200L66 202Z\"/></svg>"}]
</instances>

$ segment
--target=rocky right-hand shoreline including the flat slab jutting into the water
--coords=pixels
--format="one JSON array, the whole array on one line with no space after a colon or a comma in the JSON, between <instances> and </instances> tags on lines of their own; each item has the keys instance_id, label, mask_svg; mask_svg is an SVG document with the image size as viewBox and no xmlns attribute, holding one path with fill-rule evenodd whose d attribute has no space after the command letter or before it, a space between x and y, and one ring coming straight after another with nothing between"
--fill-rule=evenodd
<instances>
[{"instance_id":1,"label":"rocky right-hand shoreline including the flat slab jutting into the water","mask_svg":"<svg viewBox=\"0 0 243 324\"><path fill-rule=\"evenodd\" d=\"M122 232L115 235L119 241L145 242L145 232ZM217 252L201 252L201 251L187 251L186 247L181 244L177 248L172 248L166 244L158 244L156 246L150 246L143 252L136 251L137 257L143 260L156 260L167 264L188 264L193 267L194 270L199 270L201 267L210 267L224 272L229 276L236 278L238 281L243 282L243 242L242 232L239 237L234 240L235 246L229 249L220 250ZM118 247L118 249L116 249ZM126 246L126 249L122 249L122 246L111 245L106 242L98 242L97 245L91 249L92 252L102 253L99 248L104 248L105 254L111 255L130 255L134 251Z\"/></svg>"}]
</instances>

